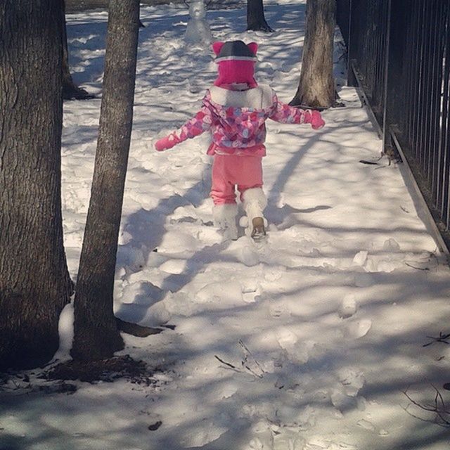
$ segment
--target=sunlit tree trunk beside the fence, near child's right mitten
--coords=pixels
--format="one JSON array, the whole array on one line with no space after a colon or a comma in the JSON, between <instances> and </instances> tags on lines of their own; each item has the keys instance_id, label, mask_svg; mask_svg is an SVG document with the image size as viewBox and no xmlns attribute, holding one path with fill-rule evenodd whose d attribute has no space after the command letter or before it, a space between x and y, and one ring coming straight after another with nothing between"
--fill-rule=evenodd
<instances>
[{"instance_id":1,"label":"sunlit tree trunk beside the fence, near child's right mitten","mask_svg":"<svg viewBox=\"0 0 450 450\"><path fill-rule=\"evenodd\" d=\"M336 101L333 77L335 0L307 0L302 71L290 105L330 108Z\"/></svg>"}]
</instances>

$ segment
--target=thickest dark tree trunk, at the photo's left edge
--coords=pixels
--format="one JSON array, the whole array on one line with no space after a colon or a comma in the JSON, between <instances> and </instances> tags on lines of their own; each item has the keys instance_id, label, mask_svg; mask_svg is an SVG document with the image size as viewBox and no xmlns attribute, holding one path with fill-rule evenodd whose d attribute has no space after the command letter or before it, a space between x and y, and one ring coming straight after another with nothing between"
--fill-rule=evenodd
<instances>
[{"instance_id":1,"label":"thickest dark tree trunk, at the photo's left edge","mask_svg":"<svg viewBox=\"0 0 450 450\"><path fill-rule=\"evenodd\" d=\"M0 3L0 369L51 359L72 292L60 186L62 8Z\"/></svg>"}]
</instances>

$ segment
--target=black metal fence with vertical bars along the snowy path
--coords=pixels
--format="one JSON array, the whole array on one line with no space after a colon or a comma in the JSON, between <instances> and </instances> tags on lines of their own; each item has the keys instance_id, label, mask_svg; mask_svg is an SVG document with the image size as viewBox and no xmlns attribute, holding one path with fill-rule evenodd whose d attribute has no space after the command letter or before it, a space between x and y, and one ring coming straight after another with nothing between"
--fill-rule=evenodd
<instances>
[{"instance_id":1,"label":"black metal fence with vertical bars along the snowy path","mask_svg":"<svg viewBox=\"0 0 450 450\"><path fill-rule=\"evenodd\" d=\"M337 0L349 84L450 242L450 0Z\"/></svg>"}]
</instances>

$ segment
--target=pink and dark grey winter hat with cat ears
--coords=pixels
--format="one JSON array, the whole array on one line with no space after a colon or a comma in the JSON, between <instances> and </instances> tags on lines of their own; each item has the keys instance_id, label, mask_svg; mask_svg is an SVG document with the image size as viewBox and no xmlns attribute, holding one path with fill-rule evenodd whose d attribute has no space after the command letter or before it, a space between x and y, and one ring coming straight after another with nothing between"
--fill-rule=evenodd
<instances>
[{"instance_id":1,"label":"pink and dark grey winter hat with cat ears","mask_svg":"<svg viewBox=\"0 0 450 450\"><path fill-rule=\"evenodd\" d=\"M243 41L214 42L212 50L216 55L215 62L219 76L214 86L231 84L248 84L249 88L256 87L255 63L258 44Z\"/></svg>"}]
</instances>

